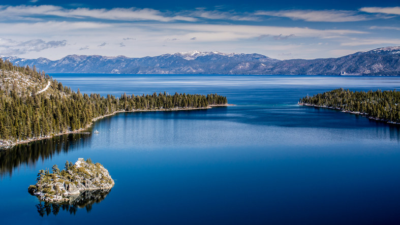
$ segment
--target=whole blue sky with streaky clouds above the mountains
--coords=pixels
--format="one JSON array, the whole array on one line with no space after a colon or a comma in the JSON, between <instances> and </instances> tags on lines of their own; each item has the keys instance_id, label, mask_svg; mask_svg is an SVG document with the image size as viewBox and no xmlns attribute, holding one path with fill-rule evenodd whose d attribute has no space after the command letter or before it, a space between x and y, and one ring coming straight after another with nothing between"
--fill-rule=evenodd
<instances>
[{"instance_id":1,"label":"whole blue sky with streaky clouds above the mountains","mask_svg":"<svg viewBox=\"0 0 400 225\"><path fill-rule=\"evenodd\" d=\"M2 2L0 55L24 58L197 50L311 59L400 46L400 0Z\"/></svg>"}]
</instances>

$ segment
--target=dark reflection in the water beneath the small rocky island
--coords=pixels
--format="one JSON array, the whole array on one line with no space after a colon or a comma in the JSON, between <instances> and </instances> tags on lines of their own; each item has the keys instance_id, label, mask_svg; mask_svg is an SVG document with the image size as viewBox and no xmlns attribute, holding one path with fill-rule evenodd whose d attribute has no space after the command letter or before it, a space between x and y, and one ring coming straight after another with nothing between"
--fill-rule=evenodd
<instances>
[{"instance_id":1,"label":"dark reflection in the water beneath the small rocky island","mask_svg":"<svg viewBox=\"0 0 400 225\"><path fill-rule=\"evenodd\" d=\"M50 214L57 215L61 210L67 211L70 214L75 215L78 209L86 209L86 212L90 212L93 204L100 203L109 194L111 189L102 190L87 190L82 192L79 196L70 196L69 203L48 203L40 202L36 205L37 211L40 216Z\"/></svg>"}]
</instances>

